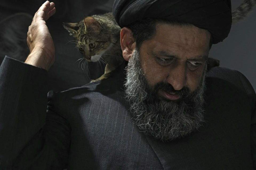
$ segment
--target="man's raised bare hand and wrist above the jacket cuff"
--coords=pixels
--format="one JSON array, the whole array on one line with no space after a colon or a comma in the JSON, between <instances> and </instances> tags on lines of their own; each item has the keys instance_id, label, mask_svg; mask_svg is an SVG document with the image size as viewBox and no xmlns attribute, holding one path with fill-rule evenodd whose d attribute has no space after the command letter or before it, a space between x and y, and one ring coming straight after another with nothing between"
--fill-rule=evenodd
<instances>
[{"instance_id":1,"label":"man's raised bare hand and wrist above the jacket cuff","mask_svg":"<svg viewBox=\"0 0 256 170\"><path fill-rule=\"evenodd\" d=\"M49 70L55 60L53 39L46 25L46 20L55 14L53 2L46 1L35 13L27 32L27 45L30 54L25 63Z\"/></svg>"}]
</instances>

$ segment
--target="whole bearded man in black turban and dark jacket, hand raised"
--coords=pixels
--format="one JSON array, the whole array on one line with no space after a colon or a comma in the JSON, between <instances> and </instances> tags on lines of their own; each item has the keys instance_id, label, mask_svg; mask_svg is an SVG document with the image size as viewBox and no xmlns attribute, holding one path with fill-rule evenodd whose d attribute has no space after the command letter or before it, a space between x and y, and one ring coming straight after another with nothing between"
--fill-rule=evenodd
<instances>
[{"instance_id":1,"label":"whole bearded man in black turban and dark jacket, hand raised","mask_svg":"<svg viewBox=\"0 0 256 170\"><path fill-rule=\"evenodd\" d=\"M230 31L230 1L115 1L126 62L108 79L50 91L45 113L54 13L46 1L35 14L25 64L0 67L1 169L256 167L253 88L238 71L206 72Z\"/></svg>"}]
</instances>

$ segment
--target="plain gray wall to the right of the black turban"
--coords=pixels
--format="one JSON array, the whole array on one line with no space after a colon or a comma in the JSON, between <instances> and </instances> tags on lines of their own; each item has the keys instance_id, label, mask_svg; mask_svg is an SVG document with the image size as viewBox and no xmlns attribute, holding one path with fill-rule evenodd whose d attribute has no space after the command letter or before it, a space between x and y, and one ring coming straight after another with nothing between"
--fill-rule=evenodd
<instances>
[{"instance_id":1,"label":"plain gray wall to the right of the black turban","mask_svg":"<svg viewBox=\"0 0 256 170\"><path fill-rule=\"evenodd\" d=\"M243 0L231 0L234 10ZM209 57L220 60L221 67L243 73L256 90L256 7L239 23L232 25L229 36L213 45Z\"/></svg>"}]
</instances>

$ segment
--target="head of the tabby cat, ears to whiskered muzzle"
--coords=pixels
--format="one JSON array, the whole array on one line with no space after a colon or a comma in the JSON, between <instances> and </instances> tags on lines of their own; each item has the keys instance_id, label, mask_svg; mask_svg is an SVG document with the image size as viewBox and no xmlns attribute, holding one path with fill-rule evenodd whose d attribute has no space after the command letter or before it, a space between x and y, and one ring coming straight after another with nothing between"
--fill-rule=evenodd
<instances>
[{"instance_id":1,"label":"head of the tabby cat, ears to whiskered muzzle","mask_svg":"<svg viewBox=\"0 0 256 170\"><path fill-rule=\"evenodd\" d=\"M63 23L76 41L76 47L87 61L98 61L111 48L113 37L104 24L91 16L78 23Z\"/></svg>"}]
</instances>

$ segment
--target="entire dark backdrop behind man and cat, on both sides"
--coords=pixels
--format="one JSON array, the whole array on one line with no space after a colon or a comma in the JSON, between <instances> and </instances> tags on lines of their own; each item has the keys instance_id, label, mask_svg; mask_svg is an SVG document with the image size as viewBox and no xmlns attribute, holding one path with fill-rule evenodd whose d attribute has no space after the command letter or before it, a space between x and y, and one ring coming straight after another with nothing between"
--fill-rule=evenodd
<instances>
[{"instance_id":1,"label":"entire dark backdrop behind man and cat, on both sides","mask_svg":"<svg viewBox=\"0 0 256 170\"><path fill-rule=\"evenodd\" d=\"M26 46L27 27L32 16L45 1L0 2L0 62L5 55L24 61L28 48ZM55 44L55 63L49 70L49 90L62 91L71 87L82 86L89 78L81 69L78 59L82 54L74 48L73 40L63 28L62 22L78 22L84 16L102 14L112 10L113 0L74 0L53 1L56 14L48 21L50 33ZM235 9L243 0L232 0ZM23 12L23 14L17 14ZM25 15L26 14L29 15ZM16 14L16 15L13 15ZM213 45L209 57L220 60L220 66L238 70L243 73L256 89L256 8L245 19L233 24L229 37ZM17 38L18 37L18 38ZM77 61L77 62L76 62ZM91 79L102 74L99 63L89 63Z\"/></svg>"}]
</instances>

